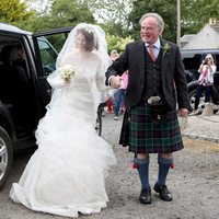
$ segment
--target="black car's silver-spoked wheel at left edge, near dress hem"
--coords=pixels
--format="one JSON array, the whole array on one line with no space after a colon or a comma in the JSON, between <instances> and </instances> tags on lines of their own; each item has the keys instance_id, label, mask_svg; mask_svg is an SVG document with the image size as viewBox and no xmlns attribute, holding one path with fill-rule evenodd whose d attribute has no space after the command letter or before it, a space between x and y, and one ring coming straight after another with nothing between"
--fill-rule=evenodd
<instances>
[{"instance_id":1,"label":"black car's silver-spoked wheel at left edge, near dress hem","mask_svg":"<svg viewBox=\"0 0 219 219\"><path fill-rule=\"evenodd\" d=\"M12 143L7 131L0 127L0 189L9 178L12 168Z\"/></svg>"}]
</instances>

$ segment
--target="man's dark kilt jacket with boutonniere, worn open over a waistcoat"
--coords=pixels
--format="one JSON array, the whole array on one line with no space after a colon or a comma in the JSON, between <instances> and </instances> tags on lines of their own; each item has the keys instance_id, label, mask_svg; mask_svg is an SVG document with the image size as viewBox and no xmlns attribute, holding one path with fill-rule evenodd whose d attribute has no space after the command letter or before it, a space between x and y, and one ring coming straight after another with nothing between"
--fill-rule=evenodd
<instances>
[{"instance_id":1,"label":"man's dark kilt jacket with boutonniere, worn open over a waistcoat","mask_svg":"<svg viewBox=\"0 0 219 219\"><path fill-rule=\"evenodd\" d=\"M162 50L169 44L168 50ZM188 108L187 82L183 61L177 45L161 38L161 85L164 102L170 110ZM123 55L115 60L106 71L106 84L111 76L122 76L128 70L128 87L126 90L127 107L139 103L143 94L145 85L145 44L142 41L130 43Z\"/></svg>"}]
</instances>

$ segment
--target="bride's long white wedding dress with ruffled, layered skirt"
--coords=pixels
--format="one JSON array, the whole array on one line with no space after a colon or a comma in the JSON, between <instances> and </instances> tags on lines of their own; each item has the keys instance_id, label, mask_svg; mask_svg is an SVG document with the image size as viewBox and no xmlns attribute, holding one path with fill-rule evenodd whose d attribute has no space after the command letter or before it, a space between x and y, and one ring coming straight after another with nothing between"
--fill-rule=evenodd
<instances>
[{"instance_id":1,"label":"bride's long white wedding dress with ruffled, layered skirt","mask_svg":"<svg viewBox=\"0 0 219 219\"><path fill-rule=\"evenodd\" d=\"M94 128L96 91L105 90L100 60L95 53L76 51L62 61L77 68L69 87L57 73L48 78L56 89L36 130L38 149L10 191L14 201L66 217L106 207L104 181L116 158Z\"/></svg>"}]
</instances>

